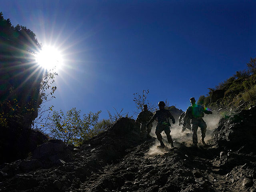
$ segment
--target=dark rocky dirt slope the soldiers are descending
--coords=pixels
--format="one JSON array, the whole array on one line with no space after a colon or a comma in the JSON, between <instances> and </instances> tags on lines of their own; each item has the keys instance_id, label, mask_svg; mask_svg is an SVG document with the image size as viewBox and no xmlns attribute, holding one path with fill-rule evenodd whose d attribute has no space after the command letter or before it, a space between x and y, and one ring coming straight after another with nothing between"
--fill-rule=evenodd
<instances>
[{"instance_id":1,"label":"dark rocky dirt slope the soldiers are descending","mask_svg":"<svg viewBox=\"0 0 256 192\"><path fill-rule=\"evenodd\" d=\"M134 120L121 118L79 148L50 140L30 158L2 165L0 191L256 192L255 117L255 107L218 125L207 116L208 146L198 150L177 125L176 148L159 149L154 130L141 141Z\"/></svg>"}]
</instances>

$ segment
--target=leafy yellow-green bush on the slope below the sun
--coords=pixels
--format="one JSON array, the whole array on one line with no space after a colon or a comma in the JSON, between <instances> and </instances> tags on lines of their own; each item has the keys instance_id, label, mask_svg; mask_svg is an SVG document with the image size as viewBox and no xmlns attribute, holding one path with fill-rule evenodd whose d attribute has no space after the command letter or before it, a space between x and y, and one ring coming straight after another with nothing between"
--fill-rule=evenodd
<instances>
[{"instance_id":1,"label":"leafy yellow-green bush on the slope below the sun","mask_svg":"<svg viewBox=\"0 0 256 192\"><path fill-rule=\"evenodd\" d=\"M81 111L72 108L66 114L62 110L54 111L50 120L52 127L50 133L53 138L61 139L65 144L78 145L84 139L98 134L97 131L92 131L97 126L99 114L89 112L80 116Z\"/></svg>"}]
</instances>

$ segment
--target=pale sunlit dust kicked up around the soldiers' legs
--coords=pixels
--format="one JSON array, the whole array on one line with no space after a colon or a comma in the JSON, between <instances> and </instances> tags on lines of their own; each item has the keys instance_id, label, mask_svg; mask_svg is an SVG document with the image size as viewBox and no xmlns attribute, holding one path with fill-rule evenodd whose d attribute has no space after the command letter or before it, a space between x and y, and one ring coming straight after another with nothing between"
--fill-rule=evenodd
<instances>
[{"instance_id":1,"label":"pale sunlit dust kicked up around the soldiers' legs","mask_svg":"<svg viewBox=\"0 0 256 192\"><path fill-rule=\"evenodd\" d=\"M213 114L204 116L203 119L207 124L207 131L206 131L206 138L205 138L206 143L207 143L207 140L209 140L212 137L213 131L217 128L218 122L222 117L224 117L223 114L221 114L218 111L214 111ZM150 135L154 138L156 138L156 134L155 134L156 124L157 122L155 121L153 123L153 127L150 132ZM172 136L172 140L174 141L174 146L176 148L179 148L181 145L186 147L192 146L192 131L186 129L182 133L181 130L182 130L182 126L179 126L179 122L178 120L176 120L176 123L172 124L172 128L171 128L171 136ZM200 143L200 138L201 138L200 128L198 128L197 134L198 134L198 142ZM160 142L156 139L155 143L152 146L150 146L148 150L149 156L164 155L164 153L171 150L170 145L168 145L166 134L164 133L164 131L162 132L162 137L166 147L164 149L159 148L158 146L160 145Z\"/></svg>"}]
</instances>

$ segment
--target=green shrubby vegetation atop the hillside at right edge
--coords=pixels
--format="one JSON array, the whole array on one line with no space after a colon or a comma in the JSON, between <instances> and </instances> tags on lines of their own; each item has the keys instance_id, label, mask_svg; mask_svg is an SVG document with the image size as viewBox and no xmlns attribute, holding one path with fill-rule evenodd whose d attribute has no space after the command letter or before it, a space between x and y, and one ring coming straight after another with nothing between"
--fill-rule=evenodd
<instances>
[{"instance_id":1,"label":"green shrubby vegetation atop the hillside at right edge","mask_svg":"<svg viewBox=\"0 0 256 192\"><path fill-rule=\"evenodd\" d=\"M220 82L215 88L208 88L208 96L200 96L198 104L211 108L230 108L256 104L256 58L250 58L248 69L237 71L232 77ZM224 96L212 102L216 90L223 90Z\"/></svg>"}]
</instances>

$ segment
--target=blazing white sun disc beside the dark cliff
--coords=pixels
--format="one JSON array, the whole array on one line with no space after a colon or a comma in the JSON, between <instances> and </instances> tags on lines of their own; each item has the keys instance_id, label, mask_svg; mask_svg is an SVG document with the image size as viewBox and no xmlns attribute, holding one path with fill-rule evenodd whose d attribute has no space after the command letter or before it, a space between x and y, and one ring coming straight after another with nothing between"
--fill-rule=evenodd
<instances>
[{"instance_id":1,"label":"blazing white sun disc beside the dark cliff","mask_svg":"<svg viewBox=\"0 0 256 192\"><path fill-rule=\"evenodd\" d=\"M43 68L58 69L62 66L63 60L60 52L52 46L44 46L38 54L36 54L36 62Z\"/></svg>"}]
</instances>

